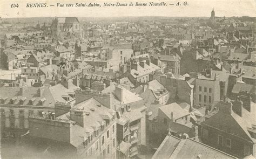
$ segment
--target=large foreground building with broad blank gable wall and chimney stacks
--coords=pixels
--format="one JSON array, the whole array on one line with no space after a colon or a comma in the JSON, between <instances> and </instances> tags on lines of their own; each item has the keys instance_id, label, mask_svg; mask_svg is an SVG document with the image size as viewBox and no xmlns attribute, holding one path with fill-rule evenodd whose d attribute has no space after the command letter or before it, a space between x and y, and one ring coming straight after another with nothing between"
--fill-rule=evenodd
<instances>
[{"instance_id":1,"label":"large foreground building with broad blank gable wall and chimney stacks","mask_svg":"<svg viewBox=\"0 0 256 159\"><path fill-rule=\"evenodd\" d=\"M73 104L57 102L56 115L30 116L30 132L24 136L28 148L40 145L42 155L47 151L51 157L116 158L116 113L97 100L89 97Z\"/></svg>"}]
</instances>

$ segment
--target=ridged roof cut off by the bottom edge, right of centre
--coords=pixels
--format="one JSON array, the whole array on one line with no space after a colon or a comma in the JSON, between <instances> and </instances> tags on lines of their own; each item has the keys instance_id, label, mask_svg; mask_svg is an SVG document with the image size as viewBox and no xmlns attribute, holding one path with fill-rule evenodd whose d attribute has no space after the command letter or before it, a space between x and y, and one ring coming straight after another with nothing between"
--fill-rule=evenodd
<instances>
[{"instance_id":1,"label":"ridged roof cut off by the bottom edge, right of centre","mask_svg":"<svg viewBox=\"0 0 256 159\"><path fill-rule=\"evenodd\" d=\"M203 158L236 158L190 138L179 139L167 135L152 159L197 158L198 156Z\"/></svg>"}]
</instances>

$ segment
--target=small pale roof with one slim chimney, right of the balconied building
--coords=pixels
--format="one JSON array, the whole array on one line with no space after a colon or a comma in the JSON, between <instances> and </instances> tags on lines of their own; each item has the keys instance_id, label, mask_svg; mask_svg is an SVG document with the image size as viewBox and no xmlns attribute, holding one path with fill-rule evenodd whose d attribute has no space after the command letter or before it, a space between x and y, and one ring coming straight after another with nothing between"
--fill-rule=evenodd
<instances>
[{"instance_id":1,"label":"small pale roof with one slim chimney, right of the balconied building","mask_svg":"<svg viewBox=\"0 0 256 159\"><path fill-rule=\"evenodd\" d=\"M190 113L186 112L183 108L181 108L177 103L171 103L169 105L161 106L159 109L171 119L170 114L173 112L173 120L180 119L183 116L190 115Z\"/></svg>"}]
</instances>

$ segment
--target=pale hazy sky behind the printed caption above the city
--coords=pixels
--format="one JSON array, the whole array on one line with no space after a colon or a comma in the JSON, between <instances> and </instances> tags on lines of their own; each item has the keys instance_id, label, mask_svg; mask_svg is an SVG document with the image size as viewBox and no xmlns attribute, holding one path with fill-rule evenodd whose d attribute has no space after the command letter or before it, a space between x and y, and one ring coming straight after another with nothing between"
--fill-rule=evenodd
<instances>
[{"instance_id":1,"label":"pale hazy sky behind the printed caption above the city","mask_svg":"<svg viewBox=\"0 0 256 159\"><path fill-rule=\"evenodd\" d=\"M61 1L61 2L60 2ZM184 6L183 2L188 5ZM0 16L2 18L21 17L123 17L123 16L166 16L166 17L210 17L214 8L217 17L250 16L256 17L256 0L185 0L185 1L159 1L159 0L0 0ZM119 6L119 7L62 7L57 8L57 3L75 4L97 2L103 5L109 3L149 3L165 2L174 4L168 6ZM181 6L176 6L180 2ZM19 4L18 8L10 8L11 4ZM46 3L46 8L26 8L26 3ZM50 6L55 5L55 6Z\"/></svg>"}]
</instances>

